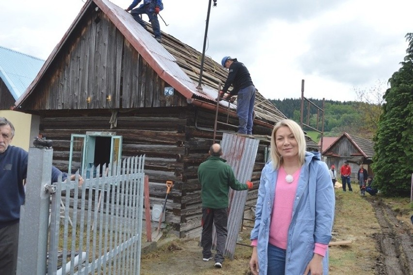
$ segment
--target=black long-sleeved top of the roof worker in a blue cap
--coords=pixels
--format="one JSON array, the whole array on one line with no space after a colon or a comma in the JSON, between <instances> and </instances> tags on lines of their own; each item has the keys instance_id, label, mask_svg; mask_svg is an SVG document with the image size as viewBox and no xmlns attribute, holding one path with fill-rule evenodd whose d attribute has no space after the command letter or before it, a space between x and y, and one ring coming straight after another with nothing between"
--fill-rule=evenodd
<instances>
[{"instance_id":1,"label":"black long-sleeved top of the roof worker in a blue cap","mask_svg":"<svg viewBox=\"0 0 413 275\"><path fill-rule=\"evenodd\" d=\"M233 85L234 88L230 92L230 96L238 95L240 89L254 85L251 80L250 72L241 62L234 61L229 66L228 78L225 81L222 92L225 93L231 85Z\"/></svg>"}]
</instances>

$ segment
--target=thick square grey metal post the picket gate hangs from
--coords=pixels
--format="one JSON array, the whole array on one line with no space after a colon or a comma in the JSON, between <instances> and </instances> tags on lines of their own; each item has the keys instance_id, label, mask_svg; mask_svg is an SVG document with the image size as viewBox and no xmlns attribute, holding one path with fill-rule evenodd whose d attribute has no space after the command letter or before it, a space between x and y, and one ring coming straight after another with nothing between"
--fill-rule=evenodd
<instances>
[{"instance_id":1,"label":"thick square grey metal post the picket gate hangs from","mask_svg":"<svg viewBox=\"0 0 413 275\"><path fill-rule=\"evenodd\" d=\"M52 148L29 148L25 204L20 207L17 274L46 274Z\"/></svg>"}]
</instances>

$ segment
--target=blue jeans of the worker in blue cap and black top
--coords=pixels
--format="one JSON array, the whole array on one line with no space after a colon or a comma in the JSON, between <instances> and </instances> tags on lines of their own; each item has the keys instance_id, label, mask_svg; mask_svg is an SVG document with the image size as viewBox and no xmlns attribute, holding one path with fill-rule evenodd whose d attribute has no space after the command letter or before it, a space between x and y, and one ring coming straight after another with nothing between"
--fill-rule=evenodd
<instances>
[{"instance_id":1,"label":"blue jeans of the worker in blue cap and black top","mask_svg":"<svg viewBox=\"0 0 413 275\"><path fill-rule=\"evenodd\" d=\"M238 133L253 133L253 111L255 101L255 87L253 85L242 88L237 96L237 115L239 120Z\"/></svg>"}]
</instances>

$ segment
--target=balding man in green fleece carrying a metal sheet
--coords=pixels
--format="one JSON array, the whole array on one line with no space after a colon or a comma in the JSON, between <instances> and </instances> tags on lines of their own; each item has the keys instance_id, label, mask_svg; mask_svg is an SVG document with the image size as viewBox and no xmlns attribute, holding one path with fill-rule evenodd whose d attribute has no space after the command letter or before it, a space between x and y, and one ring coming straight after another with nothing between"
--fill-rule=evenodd
<instances>
[{"instance_id":1,"label":"balding man in green fleece carrying a metal sheet","mask_svg":"<svg viewBox=\"0 0 413 275\"><path fill-rule=\"evenodd\" d=\"M234 190L253 188L253 183L240 183L234 176L231 166L222 159L222 148L215 143L209 148L208 159L198 167L202 199L202 255L204 261L212 259L212 225L217 231L217 253L215 267L222 268L223 252L227 238L228 193Z\"/></svg>"}]
</instances>

